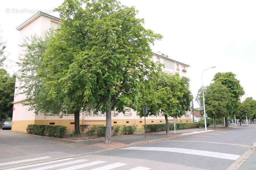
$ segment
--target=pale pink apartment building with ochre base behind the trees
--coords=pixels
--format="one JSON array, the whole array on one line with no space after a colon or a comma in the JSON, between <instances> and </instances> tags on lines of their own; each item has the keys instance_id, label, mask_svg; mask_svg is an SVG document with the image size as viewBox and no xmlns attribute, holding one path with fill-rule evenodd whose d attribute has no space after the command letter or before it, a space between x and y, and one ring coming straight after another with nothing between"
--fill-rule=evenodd
<instances>
[{"instance_id":1,"label":"pale pink apartment building with ochre base behind the trees","mask_svg":"<svg viewBox=\"0 0 256 170\"><path fill-rule=\"evenodd\" d=\"M20 44L23 41L23 37L30 35L42 35L44 31L52 31L58 27L60 18L54 17L44 12L37 12L27 21L17 27L20 31ZM22 54L22 48L19 48L19 55ZM178 72L180 76L188 77L189 65L180 63L178 61L170 59L167 55L152 53L152 61L163 63L166 73L174 74ZM15 86L19 86L20 82L16 80ZM50 125L63 125L67 126L69 130L74 129L74 115L64 116L59 118L59 115L36 115L33 110L28 110L28 106L23 106L21 101L26 100L26 96L22 94L17 95L17 89L15 89L14 101L13 101L13 116L12 116L12 130L26 132L28 124L50 124ZM106 115L95 115L92 112L85 112L80 114L80 124L106 124ZM164 116L149 116L146 118L147 124L152 123L164 123ZM173 122L173 118L169 118L169 122ZM191 122L191 114L187 112L186 115L178 118L176 122ZM132 125L137 124L140 128L144 124L144 118L140 118L136 115L136 112L132 109L129 112L112 113L112 125Z\"/></svg>"}]
</instances>

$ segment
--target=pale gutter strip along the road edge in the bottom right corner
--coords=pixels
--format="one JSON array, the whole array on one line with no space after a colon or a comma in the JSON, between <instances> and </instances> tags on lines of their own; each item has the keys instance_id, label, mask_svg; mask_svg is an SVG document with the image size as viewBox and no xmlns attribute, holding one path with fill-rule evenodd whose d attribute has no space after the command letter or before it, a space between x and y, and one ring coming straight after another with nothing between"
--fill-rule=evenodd
<instances>
[{"instance_id":1,"label":"pale gutter strip along the road edge in the bottom right corner","mask_svg":"<svg viewBox=\"0 0 256 170\"><path fill-rule=\"evenodd\" d=\"M250 149L248 149L248 151L244 152L243 155L241 155L238 159L236 159L236 161L231 164L227 170L237 170L240 168L240 166L243 165L243 163L251 156L251 154L255 151L256 148L256 143L254 143L252 145L252 147Z\"/></svg>"}]
</instances>

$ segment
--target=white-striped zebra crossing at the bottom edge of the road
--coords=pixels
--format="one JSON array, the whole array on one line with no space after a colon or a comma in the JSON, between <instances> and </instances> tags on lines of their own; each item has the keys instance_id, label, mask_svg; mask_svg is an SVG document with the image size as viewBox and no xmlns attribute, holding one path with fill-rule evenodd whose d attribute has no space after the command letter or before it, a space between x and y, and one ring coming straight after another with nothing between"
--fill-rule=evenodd
<instances>
[{"instance_id":1,"label":"white-striped zebra crossing at the bottom edge of the road","mask_svg":"<svg viewBox=\"0 0 256 170\"><path fill-rule=\"evenodd\" d=\"M58 170L76 170L76 169L84 169L88 168L88 170L110 170L115 169L122 166L122 170L148 170L151 168L143 167L143 166L137 166L132 169L125 168L125 166L128 164L121 163L121 162L115 162L115 163L108 163L108 161L90 161L89 159L78 159L74 160L74 158L67 158L67 159L60 159L60 160L54 160L49 162L43 162L38 164L32 164L32 165L26 165L26 166L19 166L19 167L13 167L8 168L4 170L17 170L17 169L23 169L23 170L44 170L44 169L58 169ZM40 166L40 167L38 167ZM65 166L64 168L61 166ZM90 167L92 166L92 167ZM97 167L96 167L97 166Z\"/></svg>"}]
</instances>

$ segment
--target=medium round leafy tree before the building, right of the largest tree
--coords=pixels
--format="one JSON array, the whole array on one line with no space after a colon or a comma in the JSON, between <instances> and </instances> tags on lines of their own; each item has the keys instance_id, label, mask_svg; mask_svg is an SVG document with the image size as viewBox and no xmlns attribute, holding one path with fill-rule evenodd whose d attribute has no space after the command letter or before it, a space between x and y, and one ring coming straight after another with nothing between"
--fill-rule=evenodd
<instances>
[{"instance_id":1,"label":"medium round leafy tree before the building, right of the largest tree","mask_svg":"<svg viewBox=\"0 0 256 170\"><path fill-rule=\"evenodd\" d=\"M190 110L192 95L189 79L181 78L178 73L171 75L162 72L146 81L136 99L138 104L135 109L140 116L143 116L144 106L148 107L148 115L164 115L166 134L169 134L168 117L181 117Z\"/></svg>"}]
</instances>

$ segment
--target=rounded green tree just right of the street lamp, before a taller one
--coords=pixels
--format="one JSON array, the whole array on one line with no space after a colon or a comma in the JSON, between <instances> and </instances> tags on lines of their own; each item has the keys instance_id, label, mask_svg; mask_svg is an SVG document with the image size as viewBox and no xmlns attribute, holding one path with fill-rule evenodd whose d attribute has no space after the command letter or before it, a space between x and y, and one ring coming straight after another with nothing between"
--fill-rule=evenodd
<instances>
[{"instance_id":1,"label":"rounded green tree just right of the street lamp, before a taller one","mask_svg":"<svg viewBox=\"0 0 256 170\"><path fill-rule=\"evenodd\" d=\"M220 82L212 83L206 87L205 91L205 112L208 117L213 118L214 128L216 128L216 118L223 118L228 115L229 91ZM199 97L201 101L203 97ZM200 104L202 105L202 102Z\"/></svg>"}]
</instances>

